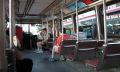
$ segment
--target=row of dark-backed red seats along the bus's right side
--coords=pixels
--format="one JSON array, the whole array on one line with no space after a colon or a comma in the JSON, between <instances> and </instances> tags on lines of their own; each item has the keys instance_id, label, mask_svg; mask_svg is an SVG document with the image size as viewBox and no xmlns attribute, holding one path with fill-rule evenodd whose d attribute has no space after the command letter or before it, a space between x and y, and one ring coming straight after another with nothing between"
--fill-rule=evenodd
<instances>
[{"instance_id":1,"label":"row of dark-backed red seats along the bus's right side","mask_svg":"<svg viewBox=\"0 0 120 72\"><path fill-rule=\"evenodd\" d=\"M50 45L52 43L48 42ZM120 43L104 45L104 41L87 40L76 44L76 40L64 40L61 47L62 55L72 53L74 60L83 61L96 70L120 67Z\"/></svg>"}]
</instances>

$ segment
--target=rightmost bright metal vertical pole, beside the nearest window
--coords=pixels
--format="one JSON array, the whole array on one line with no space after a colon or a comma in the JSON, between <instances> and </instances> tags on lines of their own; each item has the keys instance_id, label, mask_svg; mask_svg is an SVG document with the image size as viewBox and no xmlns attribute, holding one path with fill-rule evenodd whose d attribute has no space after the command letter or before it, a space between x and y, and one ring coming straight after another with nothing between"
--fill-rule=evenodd
<instances>
[{"instance_id":1,"label":"rightmost bright metal vertical pole, beside the nearest window","mask_svg":"<svg viewBox=\"0 0 120 72\"><path fill-rule=\"evenodd\" d=\"M106 0L103 0L103 16L104 16L104 43L105 45L107 45Z\"/></svg>"}]
</instances>

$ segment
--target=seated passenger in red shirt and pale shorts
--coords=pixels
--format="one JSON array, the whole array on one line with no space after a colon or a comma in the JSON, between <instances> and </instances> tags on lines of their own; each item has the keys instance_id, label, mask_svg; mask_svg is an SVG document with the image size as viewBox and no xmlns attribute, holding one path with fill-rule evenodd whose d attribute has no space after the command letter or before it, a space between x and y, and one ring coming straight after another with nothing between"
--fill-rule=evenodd
<instances>
[{"instance_id":1,"label":"seated passenger in red shirt and pale shorts","mask_svg":"<svg viewBox=\"0 0 120 72\"><path fill-rule=\"evenodd\" d=\"M54 43L55 45L53 46L53 49L52 49L52 55L51 55L52 59L54 58L54 53L55 52L58 53L59 55L61 54L62 37L63 37L63 40L72 39L71 35L68 35L68 34L65 34L65 33L66 33L66 29L65 28L63 28L63 35L62 35L62 30L60 29L60 35L57 38L56 43Z\"/></svg>"}]
</instances>

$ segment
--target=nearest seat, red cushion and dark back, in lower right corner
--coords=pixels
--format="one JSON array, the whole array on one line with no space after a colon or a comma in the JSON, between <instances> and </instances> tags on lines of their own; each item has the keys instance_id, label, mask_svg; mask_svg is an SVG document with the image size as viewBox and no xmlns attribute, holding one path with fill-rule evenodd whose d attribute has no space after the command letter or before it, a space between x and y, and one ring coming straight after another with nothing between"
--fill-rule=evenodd
<instances>
[{"instance_id":1,"label":"nearest seat, red cushion and dark back, in lower right corner","mask_svg":"<svg viewBox=\"0 0 120 72\"><path fill-rule=\"evenodd\" d=\"M85 63L97 70L120 67L120 44L108 43L101 51L100 58L86 60Z\"/></svg>"}]
</instances>

